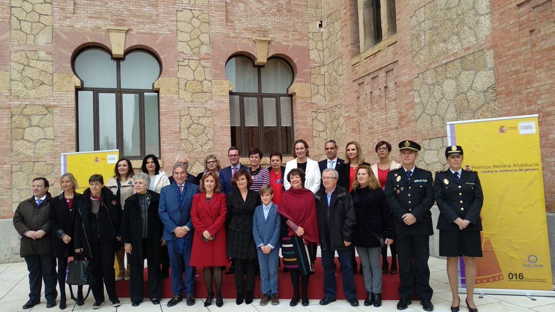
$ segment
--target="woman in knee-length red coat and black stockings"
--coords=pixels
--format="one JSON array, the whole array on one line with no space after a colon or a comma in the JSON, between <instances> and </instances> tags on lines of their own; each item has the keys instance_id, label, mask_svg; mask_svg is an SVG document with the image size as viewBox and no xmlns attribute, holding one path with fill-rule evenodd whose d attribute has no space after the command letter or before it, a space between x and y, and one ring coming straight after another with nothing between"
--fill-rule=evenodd
<instances>
[{"instance_id":1,"label":"woman in knee-length red coat and black stockings","mask_svg":"<svg viewBox=\"0 0 555 312\"><path fill-rule=\"evenodd\" d=\"M220 307L224 304L221 297L222 268L229 263L225 253L226 214L226 198L225 194L221 193L218 176L208 171L200 179L200 193L193 197L191 207L191 221L193 221L195 235L190 265L204 267L207 293L204 306L211 305L214 298L212 280L216 284L216 306Z\"/></svg>"}]
</instances>

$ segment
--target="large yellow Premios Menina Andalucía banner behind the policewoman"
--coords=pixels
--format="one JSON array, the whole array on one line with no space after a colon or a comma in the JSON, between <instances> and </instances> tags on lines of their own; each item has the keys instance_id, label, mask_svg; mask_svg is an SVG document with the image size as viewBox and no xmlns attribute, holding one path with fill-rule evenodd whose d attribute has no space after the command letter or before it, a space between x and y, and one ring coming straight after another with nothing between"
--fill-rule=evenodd
<instances>
[{"instance_id":1,"label":"large yellow Premios Menina Andaluc\u00eda banner behind the policewoman","mask_svg":"<svg viewBox=\"0 0 555 312\"><path fill-rule=\"evenodd\" d=\"M552 290L537 115L448 122L447 138L483 188L476 288Z\"/></svg>"}]
</instances>

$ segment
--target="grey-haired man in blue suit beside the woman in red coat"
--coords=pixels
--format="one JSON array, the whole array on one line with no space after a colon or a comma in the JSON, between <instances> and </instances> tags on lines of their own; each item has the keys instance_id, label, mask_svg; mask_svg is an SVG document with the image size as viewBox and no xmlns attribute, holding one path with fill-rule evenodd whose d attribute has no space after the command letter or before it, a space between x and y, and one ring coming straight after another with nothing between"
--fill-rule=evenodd
<instances>
[{"instance_id":1,"label":"grey-haired man in blue suit beside the woman in red coat","mask_svg":"<svg viewBox=\"0 0 555 312\"><path fill-rule=\"evenodd\" d=\"M171 266L171 290L173 297L168 306L178 304L182 299L183 268L185 270L185 296L187 305L194 305L195 270L189 265L193 247L193 222L191 222L191 204L193 195L199 187L186 181L187 168L183 163L175 163L171 171L174 183L160 191L158 214L164 223L164 241L168 242L168 254Z\"/></svg>"}]
</instances>

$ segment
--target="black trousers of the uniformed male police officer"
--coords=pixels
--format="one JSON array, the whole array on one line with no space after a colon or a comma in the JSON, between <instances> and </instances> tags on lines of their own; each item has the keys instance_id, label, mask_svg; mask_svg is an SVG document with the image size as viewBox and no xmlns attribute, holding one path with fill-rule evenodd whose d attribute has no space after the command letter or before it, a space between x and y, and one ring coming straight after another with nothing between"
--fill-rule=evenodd
<instances>
[{"instance_id":1,"label":"black trousers of the uniformed male police officer","mask_svg":"<svg viewBox=\"0 0 555 312\"><path fill-rule=\"evenodd\" d=\"M431 300L433 290L430 287L430 237L419 235L396 235L399 259L399 297L410 300L415 292L421 300Z\"/></svg>"}]
</instances>

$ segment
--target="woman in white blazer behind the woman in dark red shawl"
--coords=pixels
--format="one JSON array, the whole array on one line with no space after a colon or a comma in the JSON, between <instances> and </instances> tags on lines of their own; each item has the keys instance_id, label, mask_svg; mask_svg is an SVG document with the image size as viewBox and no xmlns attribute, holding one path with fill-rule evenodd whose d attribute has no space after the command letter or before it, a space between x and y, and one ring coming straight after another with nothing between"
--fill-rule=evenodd
<instances>
[{"instance_id":1,"label":"woman in white blazer behind the woman in dark red shawl","mask_svg":"<svg viewBox=\"0 0 555 312\"><path fill-rule=\"evenodd\" d=\"M293 168L301 168L305 172L305 188L308 188L312 193L320 190L321 173L318 162L309 158L309 145L305 140L296 140L294 145L295 159L287 161L284 172L285 190L289 190L291 183L287 180L287 173Z\"/></svg>"}]
</instances>

